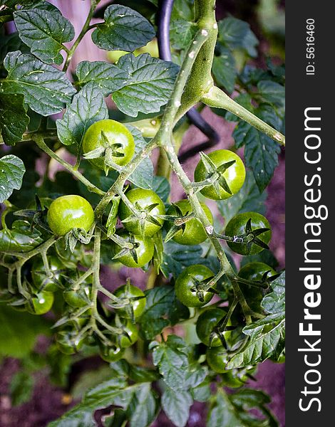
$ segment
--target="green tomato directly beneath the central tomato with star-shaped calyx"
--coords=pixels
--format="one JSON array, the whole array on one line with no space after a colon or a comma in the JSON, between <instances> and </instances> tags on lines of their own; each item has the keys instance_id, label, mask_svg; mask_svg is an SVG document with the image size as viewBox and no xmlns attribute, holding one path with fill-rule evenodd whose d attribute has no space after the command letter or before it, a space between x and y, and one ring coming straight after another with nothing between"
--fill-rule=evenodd
<instances>
[{"instance_id":1,"label":"green tomato directly beneath the central tomato with star-shaped calyx","mask_svg":"<svg viewBox=\"0 0 335 427\"><path fill-rule=\"evenodd\" d=\"M147 264L152 258L155 250L152 239L143 238L141 236L132 236L125 231L119 233L119 236L124 238L125 241L134 244L134 249L132 251L128 251L125 255L117 258L117 260L131 268L143 267L143 265ZM116 255L122 249L118 246L117 243L112 243L112 251L113 254ZM135 259L135 251L137 260Z\"/></svg>"}]
</instances>

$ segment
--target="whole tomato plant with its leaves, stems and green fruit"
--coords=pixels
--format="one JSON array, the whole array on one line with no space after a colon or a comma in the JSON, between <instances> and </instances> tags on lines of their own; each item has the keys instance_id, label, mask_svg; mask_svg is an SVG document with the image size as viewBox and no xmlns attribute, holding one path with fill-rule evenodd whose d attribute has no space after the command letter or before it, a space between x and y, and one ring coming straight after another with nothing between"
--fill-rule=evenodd
<instances>
[{"instance_id":1,"label":"whole tomato plant with its leaves, stems and green fruit","mask_svg":"<svg viewBox=\"0 0 335 427\"><path fill-rule=\"evenodd\" d=\"M28 401L37 371L73 399L80 389L50 427L149 427L160 411L183 427L194 401L208 426L275 426L249 381L285 355L264 204L285 143L284 65L264 60L247 22L217 20L215 0L86 0L76 32L56 3L0 7L11 390ZM88 38L106 60L77 54ZM191 124L205 142L186 142Z\"/></svg>"}]
</instances>

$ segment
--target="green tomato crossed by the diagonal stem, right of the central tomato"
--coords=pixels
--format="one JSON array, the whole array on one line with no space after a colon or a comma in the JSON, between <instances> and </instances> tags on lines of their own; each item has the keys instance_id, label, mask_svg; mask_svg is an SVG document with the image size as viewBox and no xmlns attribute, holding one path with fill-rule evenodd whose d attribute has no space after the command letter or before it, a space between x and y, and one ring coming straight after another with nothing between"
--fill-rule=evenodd
<instances>
[{"instance_id":1,"label":"green tomato crossed by the diagonal stem, right of the central tomato","mask_svg":"<svg viewBox=\"0 0 335 427\"><path fill-rule=\"evenodd\" d=\"M213 216L210 209L207 208L205 204L201 204L202 209L205 211L205 214L210 223L213 223ZM168 215L172 216L187 216L192 213L192 207L188 200L180 200L175 202L168 209ZM185 222L180 226L180 231L178 231L175 236L172 238L173 241L180 243L180 245L199 245L207 238L205 229L202 226L202 223L197 218L192 218L189 221Z\"/></svg>"}]
</instances>

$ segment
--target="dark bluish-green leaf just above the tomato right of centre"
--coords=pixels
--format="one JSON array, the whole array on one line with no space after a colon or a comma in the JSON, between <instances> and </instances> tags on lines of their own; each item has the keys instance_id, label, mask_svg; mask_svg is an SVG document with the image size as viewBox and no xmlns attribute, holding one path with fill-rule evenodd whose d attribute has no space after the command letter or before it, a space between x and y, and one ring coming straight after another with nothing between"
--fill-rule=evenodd
<instances>
[{"instance_id":1,"label":"dark bluish-green leaf just above the tomato right of centre","mask_svg":"<svg viewBox=\"0 0 335 427\"><path fill-rule=\"evenodd\" d=\"M168 241L164 243L163 263L160 265L160 270L166 278L170 274L177 278L184 267L201 264L201 255L202 248L199 245L186 246Z\"/></svg>"}]
</instances>

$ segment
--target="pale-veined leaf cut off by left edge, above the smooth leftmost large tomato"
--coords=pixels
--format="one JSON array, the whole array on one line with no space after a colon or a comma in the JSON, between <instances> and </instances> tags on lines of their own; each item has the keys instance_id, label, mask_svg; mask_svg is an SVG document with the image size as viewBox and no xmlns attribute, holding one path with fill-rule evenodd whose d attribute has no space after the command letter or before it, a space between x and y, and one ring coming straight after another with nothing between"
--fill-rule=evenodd
<instances>
[{"instance_id":1,"label":"pale-veined leaf cut off by left edge, above the smooth leftmost large tomato","mask_svg":"<svg viewBox=\"0 0 335 427\"><path fill-rule=\"evenodd\" d=\"M1 111L1 110L0 110ZM0 159L0 203L7 200L14 189L21 189L26 168L19 157L9 154Z\"/></svg>"}]
</instances>

